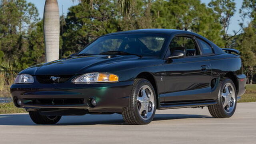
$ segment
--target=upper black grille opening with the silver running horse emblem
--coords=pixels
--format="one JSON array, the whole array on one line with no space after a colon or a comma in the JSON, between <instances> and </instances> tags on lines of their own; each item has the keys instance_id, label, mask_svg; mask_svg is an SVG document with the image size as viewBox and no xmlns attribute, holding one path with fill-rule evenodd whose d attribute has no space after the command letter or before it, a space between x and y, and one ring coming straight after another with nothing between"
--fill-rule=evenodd
<instances>
[{"instance_id":1,"label":"upper black grille opening with the silver running horse emblem","mask_svg":"<svg viewBox=\"0 0 256 144\"><path fill-rule=\"evenodd\" d=\"M64 83L73 75L38 75L36 79L42 84Z\"/></svg>"}]
</instances>

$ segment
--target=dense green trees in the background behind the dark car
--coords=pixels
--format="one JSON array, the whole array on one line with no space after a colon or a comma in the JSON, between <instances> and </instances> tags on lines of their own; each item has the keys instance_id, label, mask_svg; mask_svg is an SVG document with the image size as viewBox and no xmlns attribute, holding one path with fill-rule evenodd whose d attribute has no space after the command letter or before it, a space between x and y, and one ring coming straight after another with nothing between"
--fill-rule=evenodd
<instances>
[{"instance_id":1,"label":"dense green trees in the background behind the dark car","mask_svg":"<svg viewBox=\"0 0 256 144\"><path fill-rule=\"evenodd\" d=\"M142 28L170 28L196 32L220 48L241 52L248 82L256 82L256 0L131 0L125 16L118 0L97 0L90 8L71 6L60 16L60 58L84 48L98 36ZM240 29L229 33L231 19L240 14ZM249 23L245 20L250 20ZM26 0L0 1L0 70L22 70L43 63L43 21Z\"/></svg>"}]
</instances>

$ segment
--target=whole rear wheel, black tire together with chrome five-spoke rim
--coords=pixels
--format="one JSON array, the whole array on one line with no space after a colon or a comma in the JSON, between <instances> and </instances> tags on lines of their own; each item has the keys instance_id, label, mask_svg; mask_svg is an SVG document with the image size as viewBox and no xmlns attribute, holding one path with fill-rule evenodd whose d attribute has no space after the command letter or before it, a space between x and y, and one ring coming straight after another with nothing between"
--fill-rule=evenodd
<instances>
[{"instance_id":1,"label":"whole rear wheel, black tire together with chrome five-spoke rim","mask_svg":"<svg viewBox=\"0 0 256 144\"><path fill-rule=\"evenodd\" d=\"M225 78L220 87L217 105L208 106L214 118L229 118L236 110L236 87L232 80Z\"/></svg>"}]
</instances>

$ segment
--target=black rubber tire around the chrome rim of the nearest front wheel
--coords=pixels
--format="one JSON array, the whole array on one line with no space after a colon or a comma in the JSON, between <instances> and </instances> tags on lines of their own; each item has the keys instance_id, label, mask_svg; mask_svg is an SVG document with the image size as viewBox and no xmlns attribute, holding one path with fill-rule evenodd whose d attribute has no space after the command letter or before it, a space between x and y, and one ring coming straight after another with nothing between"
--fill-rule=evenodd
<instances>
[{"instance_id":1,"label":"black rubber tire around the chrome rim of the nearest front wheel","mask_svg":"<svg viewBox=\"0 0 256 144\"><path fill-rule=\"evenodd\" d=\"M142 86L150 87L154 95L154 106L151 110L152 115L149 117L148 120L144 120L138 112L137 96ZM134 84L132 86L132 91L130 94L129 105L126 108L123 108L122 110L122 116L124 118L124 121L126 122L126 124L134 124L134 125L149 124L153 120L155 112L156 112L156 93L154 91L152 84L146 79L135 79Z\"/></svg>"}]
</instances>

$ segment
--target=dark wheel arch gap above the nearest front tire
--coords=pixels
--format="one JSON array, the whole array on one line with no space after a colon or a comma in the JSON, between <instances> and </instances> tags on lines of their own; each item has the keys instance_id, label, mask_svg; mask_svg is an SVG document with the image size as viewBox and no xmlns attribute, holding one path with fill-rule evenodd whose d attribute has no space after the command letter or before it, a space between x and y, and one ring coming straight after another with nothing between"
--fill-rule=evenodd
<instances>
[{"instance_id":1,"label":"dark wheel arch gap above the nearest front tire","mask_svg":"<svg viewBox=\"0 0 256 144\"><path fill-rule=\"evenodd\" d=\"M138 74L136 76L136 78L144 78L152 84L152 86L155 90L155 93L156 93L156 108L158 108L158 106L159 106L159 94L158 94L158 87L157 87L156 79L154 78L154 76L150 72L141 72L140 74Z\"/></svg>"}]
</instances>

